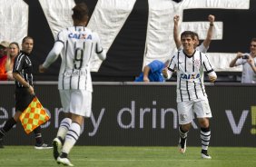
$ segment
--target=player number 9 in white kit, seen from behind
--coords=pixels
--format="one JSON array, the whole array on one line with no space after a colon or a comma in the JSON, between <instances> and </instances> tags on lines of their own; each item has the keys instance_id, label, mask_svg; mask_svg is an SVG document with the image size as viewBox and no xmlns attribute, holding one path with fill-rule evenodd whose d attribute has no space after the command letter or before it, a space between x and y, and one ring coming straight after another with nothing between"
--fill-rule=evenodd
<instances>
[{"instance_id":1,"label":"player number 9 in white kit, seen from behind","mask_svg":"<svg viewBox=\"0 0 256 167\"><path fill-rule=\"evenodd\" d=\"M94 53L101 60L106 57L98 34L86 27L89 19L87 5L77 4L73 12L74 26L59 32L53 49L44 64L39 66L39 72L44 73L61 54L58 89L66 117L60 123L53 145L54 159L68 166L73 166L67 157L82 132L84 117L91 116L93 85L90 60Z\"/></svg>"}]
</instances>

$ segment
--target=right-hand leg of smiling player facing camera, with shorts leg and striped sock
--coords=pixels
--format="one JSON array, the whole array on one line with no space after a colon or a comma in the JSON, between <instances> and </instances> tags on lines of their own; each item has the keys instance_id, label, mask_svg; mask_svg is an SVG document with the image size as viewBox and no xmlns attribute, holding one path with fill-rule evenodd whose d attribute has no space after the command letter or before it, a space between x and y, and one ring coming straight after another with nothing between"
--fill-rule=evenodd
<instances>
[{"instance_id":1,"label":"right-hand leg of smiling player facing camera, with shorts leg and striped sock","mask_svg":"<svg viewBox=\"0 0 256 167\"><path fill-rule=\"evenodd\" d=\"M196 114L198 117L198 122L201 127L201 141L202 141L202 158L212 159L208 154L208 147L211 140L211 129L209 118L212 117L212 112L208 103L208 100L203 100L195 105Z\"/></svg>"}]
</instances>

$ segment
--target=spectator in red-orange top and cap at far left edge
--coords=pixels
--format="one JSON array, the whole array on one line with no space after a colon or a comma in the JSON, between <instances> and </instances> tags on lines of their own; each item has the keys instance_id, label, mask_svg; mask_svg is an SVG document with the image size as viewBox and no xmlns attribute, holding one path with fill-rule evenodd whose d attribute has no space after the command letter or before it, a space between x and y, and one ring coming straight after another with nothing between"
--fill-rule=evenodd
<instances>
[{"instance_id":1,"label":"spectator in red-orange top and cap at far left edge","mask_svg":"<svg viewBox=\"0 0 256 167\"><path fill-rule=\"evenodd\" d=\"M8 80L8 76L5 71L8 47L9 43L7 41L2 41L0 43L0 81Z\"/></svg>"}]
</instances>

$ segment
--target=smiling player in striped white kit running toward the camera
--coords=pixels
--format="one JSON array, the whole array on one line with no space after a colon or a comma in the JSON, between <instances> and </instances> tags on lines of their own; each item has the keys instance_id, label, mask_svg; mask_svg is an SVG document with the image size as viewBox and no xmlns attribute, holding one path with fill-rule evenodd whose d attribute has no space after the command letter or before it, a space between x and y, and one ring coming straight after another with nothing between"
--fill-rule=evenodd
<instances>
[{"instance_id":1,"label":"smiling player in striped white kit running toward the camera","mask_svg":"<svg viewBox=\"0 0 256 167\"><path fill-rule=\"evenodd\" d=\"M212 112L202 83L200 68L204 67L211 82L217 79L217 75L213 71L207 56L194 49L196 43L194 33L185 31L181 38L183 49L173 55L168 70L163 70L163 75L168 79L175 70L177 72L176 92L180 124L179 151L181 153L186 151L187 135L195 113L201 127L202 158L211 159L212 157L207 150L211 138L209 118L212 117Z\"/></svg>"}]
</instances>

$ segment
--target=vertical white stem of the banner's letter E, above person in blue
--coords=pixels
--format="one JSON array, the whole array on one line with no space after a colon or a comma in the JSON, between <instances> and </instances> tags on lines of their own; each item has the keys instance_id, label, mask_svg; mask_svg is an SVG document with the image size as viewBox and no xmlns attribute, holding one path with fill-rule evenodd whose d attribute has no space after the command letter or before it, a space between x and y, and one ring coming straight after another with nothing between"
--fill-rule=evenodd
<instances>
[{"instance_id":1,"label":"vertical white stem of the banner's letter E, above person in blue","mask_svg":"<svg viewBox=\"0 0 256 167\"><path fill-rule=\"evenodd\" d=\"M174 5L169 0L148 0L149 17L143 66L150 64L154 59L166 61L171 57L173 41L173 22L175 15Z\"/></svg>"}]
</instances>

